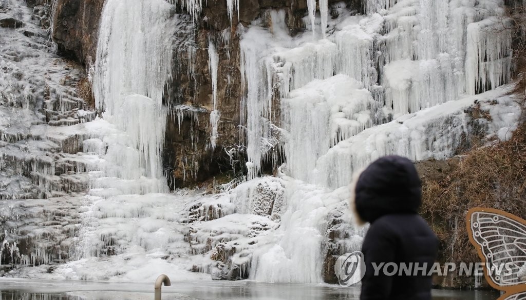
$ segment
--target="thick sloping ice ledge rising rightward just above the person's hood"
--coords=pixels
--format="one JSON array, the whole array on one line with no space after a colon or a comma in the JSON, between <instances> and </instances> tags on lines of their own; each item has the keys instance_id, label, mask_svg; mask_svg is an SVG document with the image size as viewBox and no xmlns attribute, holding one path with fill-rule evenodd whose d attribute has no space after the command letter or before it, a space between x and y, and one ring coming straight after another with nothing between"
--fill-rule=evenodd
<instances>
[{"instance_id":1,"label":"thick sloping ice ledge rising rightward just above the person's hood","mask_svg":"<svg viewBox=\"0 0 526 300\"><path fill-rule=\"evenodd\" d=\"M509 133L517 126L514 112L517 106L512 98L503 96L509 91L499 88L450 101L366 129L321 156L314 177L320 184L335 188L350 182L353 171L365 168L382 156L399 154L414 161L446 159L454 155L456 148L464 142L463 135L472 131L473 126L494 132L499 139L508 139ZM501 107L491 106L494 100ZM493 123L470 123L466 109L475 101L481 101L483 110L495 116Z\"/></svg>"}]
</instances>

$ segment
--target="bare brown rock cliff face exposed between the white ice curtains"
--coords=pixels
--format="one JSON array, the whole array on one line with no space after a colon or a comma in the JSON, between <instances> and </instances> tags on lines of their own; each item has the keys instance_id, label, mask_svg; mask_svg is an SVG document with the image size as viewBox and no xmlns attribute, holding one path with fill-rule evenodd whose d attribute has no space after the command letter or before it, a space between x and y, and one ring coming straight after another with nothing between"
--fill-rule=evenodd
<instances>
[{"instance_id":1,"label":"bare brown rock cliff face exposed between the white ice curtains","mask_svg":"<svg viewBox=\"0 0 526 300\"><path fill-rule=\"evenodd\" d=\"M341 1L331 0L329 4L337 2ZM357 12L363 11L361 0L347 0L346 5ZM103 6L104 0L58 0L56 3L53 39L59 53L78 60L87 69L94 64ZM178 35L186 35L183 39L193 45L194 51L186 51L183 47L176 49L173 81L166 87L165 102L171 111L163 161L171 188L194 187L216 175L227 180L245 172L245 165L236 163L244 156L244 146L240 143L243 139L240 126L244 122L240 115L243 110L240 97L244 95L244 90L238 28L249 25L258 17L270 26L268 10L283 9L290 33L302 32L306 30L302 18L307 15L307 1L241 1L239 14L231 20L224 0L209 1L195 19L187 11L178 9L180 22L187 28ZM218 147L214 150L210 149L209 142L212 130L209 120L213 110L212 78L208 64L210 40L217 45L219 58L217 108L221 118L217 129ZM190 60L195 64L189 64ZM277 115L279 103L275 102L273 107ZM275 165L276 161L269 161L264 171L272 172Z\"/></svg>"}]
</instances>

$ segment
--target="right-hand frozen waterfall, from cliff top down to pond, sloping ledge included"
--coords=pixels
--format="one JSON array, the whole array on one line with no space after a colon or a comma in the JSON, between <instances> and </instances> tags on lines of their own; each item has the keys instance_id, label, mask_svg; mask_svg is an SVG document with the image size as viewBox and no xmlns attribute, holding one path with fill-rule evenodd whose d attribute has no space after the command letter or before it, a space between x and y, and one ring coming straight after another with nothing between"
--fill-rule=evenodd
<instances>
[{"instance_id":1,"label":"right-hand frozen waterfall, from cliff top down to pond, sloping ledge included","mask_svg":"<svg viewBox=\"0 0 526 300\"><path fill-rule=\"evenodd\" d=\"M464 109L473 102L499 116L486 127L499 138L517 126L514 105L503 97L509 89L498 88L511 77L503 1L367 1L366 16L346 16L336 4L340 14L330 21L323 1L319 14L316 1L307 4L311 32L290 37L284 15L271 14L270 32L252 26L242 36L249 178L269 158L274 124L286 157L281 171L330 189L346 187L380 156L451 157L472 130ZM277 109L280 118L272 119ZM294 208L301 192L292 186L279 237L254 251L250 278L320 281L321 253L310 250L323 244L315 214L327 206ZM299 197L310 205L312 198Z\"/></svg>"}]
</instances>

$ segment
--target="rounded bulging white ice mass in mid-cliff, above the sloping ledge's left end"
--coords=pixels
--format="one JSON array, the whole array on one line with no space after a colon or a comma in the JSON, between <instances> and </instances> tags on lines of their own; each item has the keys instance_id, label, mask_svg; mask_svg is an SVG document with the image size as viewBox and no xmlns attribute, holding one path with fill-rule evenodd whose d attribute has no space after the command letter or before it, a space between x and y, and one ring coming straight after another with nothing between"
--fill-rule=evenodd
<instances>
[{"instance_id":1,"label":"rounded bulging white ice mass in mid-cliff, above the sloping ledge's left end","mask_svg":"<svg viewBox=\"0 0 526 300\"><path fill-rule=\"evenodd\" d=\"M373 99L360 82L346 75L314 80L281 100L288 174L311 181L320 155L340 140L372 126Z\"/></svg>"}]
</instances>

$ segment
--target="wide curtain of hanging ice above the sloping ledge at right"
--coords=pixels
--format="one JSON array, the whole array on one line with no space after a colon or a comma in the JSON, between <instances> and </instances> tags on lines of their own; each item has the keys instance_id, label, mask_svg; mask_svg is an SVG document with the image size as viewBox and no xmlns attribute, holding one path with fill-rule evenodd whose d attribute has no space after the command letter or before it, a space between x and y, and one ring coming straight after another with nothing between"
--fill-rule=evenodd
<instances>
[{"instance_id":1,"label":"wide curtain of hanging ice above the sloping ledge at right","mask_svg":"<svg viewBox=\"0 0 526 300\"><path fill-rule=\"evenodd\" d=\"M309 1L308 7L314 24L316 2ZM319 7L325 10L325 5L320 3ZM504 30L509 21L503 16L502 1L367 1L366 8L366 16L345 16L344 10L333 18L328 26L335 32L325 39L312 40L308 33L290 38L276 34L274 28L267 33L256 26L242 37L242 69L248 84L247 154L254 165L249 178L257 175L260 162L267 159L268 153L260 145L261 140L268 138L269 131L264 129L271 123L281 121L281 127L287 131L285 136L292 137L282 146L287 153L287 173L314 183L325 163L318 158L331 147L338 147L339 142L359 136L361 130L509 81L511 37ZM325 14L320 17L325 24ZM265 50L254 53L251 47ZM323 109L319 106L319 110L306 108L312 105L312 95L317 94L309 87L318 80L328 80L318 85L329 86L336 80L333 78L341 75L358 82L353 88L365 88L368 97L372 97L368 106L360 109L359 116L346 112L344 108L350 100L338 95L326 95L322 100L332 105L330 117L321 117ZM280 120L272 120L268 112L276 109L271 107L276 88ZM308 95L296 96L300 94ZM290 98L298 98L295 102L299 105L291 106ZM313 122L313 118L320 117L325 122ZM305 129L314 130L316 135L299 138ZM327 137L331 137L331 143ZM304 147L306 143L310 147ZM442 157L440 153L431 156ZM296 157L308 158L307 163L298 163ZM339 158L345 162L339 164L341 168L360 165L352 159L348 161L349 157L352 156ZM412 157L428 155L421 152ZM334 188L342 182L327 184Z\"/></svg>"}]
</instances>

